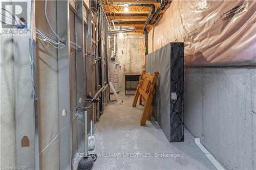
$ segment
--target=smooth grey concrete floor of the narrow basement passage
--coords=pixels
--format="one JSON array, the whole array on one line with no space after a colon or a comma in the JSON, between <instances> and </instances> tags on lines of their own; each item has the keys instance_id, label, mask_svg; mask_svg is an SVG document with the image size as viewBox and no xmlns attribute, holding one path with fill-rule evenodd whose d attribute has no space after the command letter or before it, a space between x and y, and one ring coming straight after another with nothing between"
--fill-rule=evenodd
<instances>
[{"instance_id":1,"label":"smooth grey concrete floor of the narrow basement passage","mask_svg":"<svg viewBox=\"0 0 256 170\"><path fill-rule=\"evenodd\" d=\"M142 106L132 107L133 96L119 97L123 104L106 107L97 125L94 169L216 169L186 129L185 142L169 143L154 118L140 126Z\"/></svg>"}]
</instances>

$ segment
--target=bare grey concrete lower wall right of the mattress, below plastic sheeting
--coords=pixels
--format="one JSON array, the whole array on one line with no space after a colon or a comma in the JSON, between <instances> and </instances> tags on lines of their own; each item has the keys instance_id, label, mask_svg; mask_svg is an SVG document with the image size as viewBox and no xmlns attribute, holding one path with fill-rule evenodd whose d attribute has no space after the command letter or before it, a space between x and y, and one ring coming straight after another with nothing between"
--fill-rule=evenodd
<instances>
[{"instance_id":1,"label":"bare grey concrete lower wall right of the mattress, below plastic sheeting","mask_svg":"<svg viewBox=\"0 0 256 170\"><path fill-rule=\"evenodd\" d=\"M186 68L187 129L227 169L256 169L256 68Z\"/></svg>"}]
</instances>

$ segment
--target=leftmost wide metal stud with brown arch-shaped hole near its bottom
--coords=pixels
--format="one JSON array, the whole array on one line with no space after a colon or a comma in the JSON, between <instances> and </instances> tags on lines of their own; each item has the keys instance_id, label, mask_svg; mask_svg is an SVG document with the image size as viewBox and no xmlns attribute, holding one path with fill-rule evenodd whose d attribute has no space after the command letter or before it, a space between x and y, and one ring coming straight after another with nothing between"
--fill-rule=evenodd
<instances>
[{"instance_id":1,"label":"leftmost wide metal stud with brown arch-shaped hole near its bottom","mask_svg":"<svg viewBox=\"0 0 256 170\"><path fill-rule=\"evenodd\" d=\"M15 7L15 2L3 4ZM13 36L16 165L39 169L36 96L35 1L24 1L28 33ZM5 7L3 7L5 8ZM4 155L7 156L7 155Z\"/></svg>"}]
</instances>

